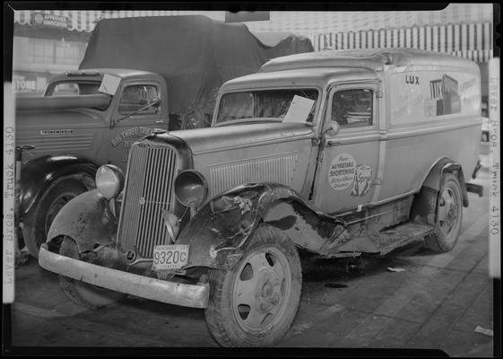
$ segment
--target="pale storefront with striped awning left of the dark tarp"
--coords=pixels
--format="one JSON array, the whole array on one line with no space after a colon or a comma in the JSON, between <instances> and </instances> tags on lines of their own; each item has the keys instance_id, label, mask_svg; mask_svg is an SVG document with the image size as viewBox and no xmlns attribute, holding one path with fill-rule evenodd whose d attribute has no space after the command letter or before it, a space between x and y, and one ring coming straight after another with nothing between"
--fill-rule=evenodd
<instances>
[{"instance_id":1,"label":"pale storefront with striped awning left of the dark tarp","mask_svg":"<svg viewBox=\"0 0 503 359\"><path fill-rule=\"evenodd\" d=\"M176 11L15 11L13 86L16 92L40 94L52 74L76 70L91 31L101 19L169 16Z\"/></svg>"}]
</instances>

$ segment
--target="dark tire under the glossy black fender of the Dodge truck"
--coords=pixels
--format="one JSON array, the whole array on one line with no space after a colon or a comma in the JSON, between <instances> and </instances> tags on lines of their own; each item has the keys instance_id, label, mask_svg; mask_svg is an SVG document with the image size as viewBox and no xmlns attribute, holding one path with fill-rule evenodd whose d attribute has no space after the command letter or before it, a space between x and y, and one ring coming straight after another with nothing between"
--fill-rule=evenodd
<instances>
[{"instance_id":1,"label":"dark tire under the glossy black fender of the Dodge truck","mask_svg":"<svg viewBox=\"0 0 503 359\"><path fill-rule=\"evenodd\" d=\"M60 206L58 200L63 197L68 202L85 191L87 188L80 180L68 179L58 181L40 197L35 211L23 220L23 239L31 257L39 258L40 245L46 241L50 226L46 225L48 216L51 215L53 219L56 216L58 210L56 211L55 206Z\"/></svg>"}]
</instances>

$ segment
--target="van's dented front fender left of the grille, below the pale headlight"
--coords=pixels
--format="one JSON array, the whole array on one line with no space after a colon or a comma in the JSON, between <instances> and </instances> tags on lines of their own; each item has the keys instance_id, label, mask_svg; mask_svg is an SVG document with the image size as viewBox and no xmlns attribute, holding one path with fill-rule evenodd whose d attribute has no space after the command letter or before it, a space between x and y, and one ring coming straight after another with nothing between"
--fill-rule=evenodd
<instances>
[{"instance_id":1,"label":"van's dented front fender left of the grille, below the pale headlight","mask_svg":"<svg viewBox=\"0 0 503 359\"><path fill-rule=\"evenodd\" d=\"M56 215L47 242L57 236L69 236L80 252L93 250L97 243L107 245L115 240L117 221L108 210L108 200L93 189L74 197Z\"/></svg>"}]
</instances>

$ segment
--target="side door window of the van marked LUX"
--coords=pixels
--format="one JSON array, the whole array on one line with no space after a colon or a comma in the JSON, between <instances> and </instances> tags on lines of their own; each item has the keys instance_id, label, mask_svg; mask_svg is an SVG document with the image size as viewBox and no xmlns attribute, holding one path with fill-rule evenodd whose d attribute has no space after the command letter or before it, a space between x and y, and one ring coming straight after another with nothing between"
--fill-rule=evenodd
<instances>
[{"instance_id":1,"label":"side door window of the van marked LUX","mask_svg":"<svg viewBox=\"0 0 503 359\"><path fill-rule=\"evenodd\" d=\"M332 120L341 127L372 125L373 92L369 89L351 89L335 92L332 99Z\"/></svg>"}]
</instances>

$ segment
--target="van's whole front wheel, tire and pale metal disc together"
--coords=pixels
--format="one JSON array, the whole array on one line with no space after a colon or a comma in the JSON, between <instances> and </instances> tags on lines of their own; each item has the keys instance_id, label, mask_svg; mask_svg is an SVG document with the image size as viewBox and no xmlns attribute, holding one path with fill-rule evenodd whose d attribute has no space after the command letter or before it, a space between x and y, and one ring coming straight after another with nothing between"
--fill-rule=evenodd
<instances>
[{"instance_id":1,"label":"van's whole front wheel, tire and pale metal disc together","mask_svg":"<svg viewBox=\"0 0 503 359\"><path fill-rule=\"evenodd\" d=\"M261 225L234 270L211 270L205 311L222 346L273 346L299 309L299 254L279 229Z\"/></svg>"}]
</instances>

